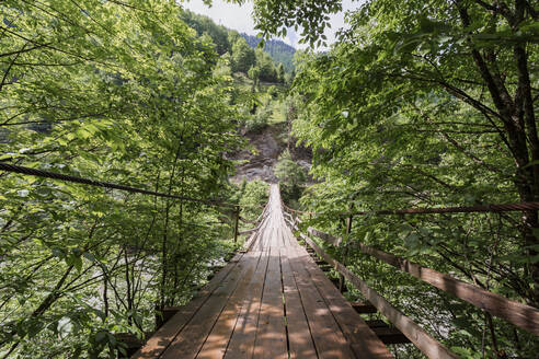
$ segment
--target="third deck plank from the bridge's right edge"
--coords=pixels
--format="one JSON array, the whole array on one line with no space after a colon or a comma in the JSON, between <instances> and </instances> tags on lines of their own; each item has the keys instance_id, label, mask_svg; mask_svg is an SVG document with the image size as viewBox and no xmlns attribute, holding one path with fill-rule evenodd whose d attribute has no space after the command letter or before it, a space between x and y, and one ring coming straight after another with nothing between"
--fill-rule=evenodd
<instances>
[{"instance_id":1,"label":"third deck plank from the bridge's right edge","mask_svg":"<svg viewBox=\"0 0 539 359\"><path fill-rule=\"evenodd\" d=\"M287 241L288 242L288 241ZM280 267L283 271L283 290L285 294L286 323L290 359L317 358L317 349L312 341L309 323L291 273L288 259L290 243L280 248Z\"/></svg>"}]
</instances>

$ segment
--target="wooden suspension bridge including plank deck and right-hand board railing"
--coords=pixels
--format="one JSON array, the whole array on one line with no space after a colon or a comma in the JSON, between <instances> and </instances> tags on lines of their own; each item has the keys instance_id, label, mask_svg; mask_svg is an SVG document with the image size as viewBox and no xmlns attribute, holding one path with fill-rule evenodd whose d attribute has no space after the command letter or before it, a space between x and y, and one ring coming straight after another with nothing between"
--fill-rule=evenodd
<instances>
[{"instance_id":1,"label":"wooden suspension bridge including plank deck and right-hand board railing","mask_svg":"<svg viewBox=\"0 0 539 359\"><path fill-rule=\"evenodd\" d=\"M131 358L392 358L386 344L401 343L413 343L431 359L458 358L306 234L300 236L309 247L301 246L291 232L299 231L300 220L284 208L278 186L272 185L244 251L175 309ZM352 216L348 232L351 221ZM312 228L307 232L329 245L342 243ZM532 306L391 254L367 246L360 251L539 335L539 311ZM341 274L339 286L325 276L328 268ZM369 303L348 302L341 293L345 280ZM377 311L392 326L359 315Z\"/></svg>"}]
</instances>

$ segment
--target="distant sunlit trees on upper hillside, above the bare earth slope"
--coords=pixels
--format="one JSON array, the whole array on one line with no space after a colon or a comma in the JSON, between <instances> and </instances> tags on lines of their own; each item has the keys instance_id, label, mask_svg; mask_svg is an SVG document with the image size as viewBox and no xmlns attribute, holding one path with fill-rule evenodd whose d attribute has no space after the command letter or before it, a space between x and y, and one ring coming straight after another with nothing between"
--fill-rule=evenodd
<instances>
[{"instance_id":1,"label":"distant sunlit trees on upper hillside, above the bare earth slope","mask_svg":"<svg viewBox=\"0 0 539 359\"><path fill-rule=\"evenodd\" d=\"M232 79L229 104L237 105L243 131L259 131L280 117L280 94L291 82L287 72L295 50L280 40L268 40L263 48L252 36L217 25L211 19L184 11L181 14L199 36L209 36L219 57L217 73ZM282 55L282 54L285 54ZM285 62L285 65L283 63Z\"/></svg>"}]
</instances>

